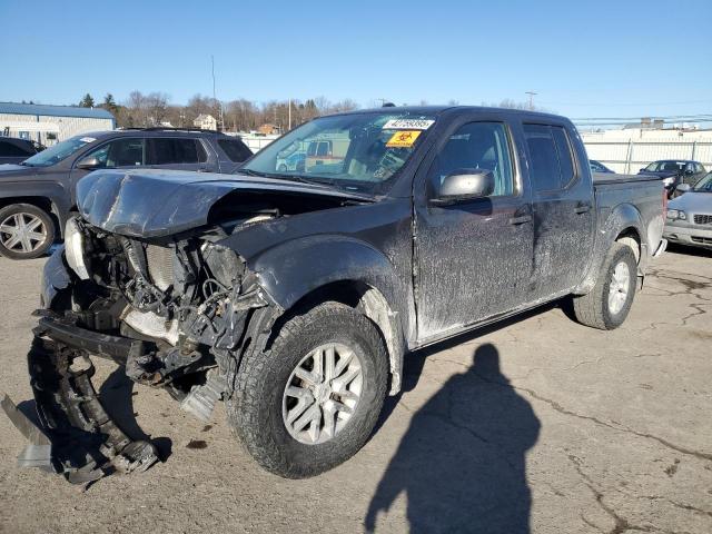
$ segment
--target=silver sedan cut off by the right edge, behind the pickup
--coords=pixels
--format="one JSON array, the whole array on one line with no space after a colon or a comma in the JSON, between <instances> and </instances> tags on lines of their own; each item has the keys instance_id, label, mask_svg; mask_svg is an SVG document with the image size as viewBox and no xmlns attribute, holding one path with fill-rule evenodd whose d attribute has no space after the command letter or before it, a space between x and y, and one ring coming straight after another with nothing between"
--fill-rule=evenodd
<instances>
[{"instance_id":1,"label":"silver sedan cut off by the right edge, behind the pickup","mask_svg":"<svg viewBox=\"0 0 712 534\"><path fill-rule=\"evenodd\" d=\"M668 205L663 237L671 243L712 248L712 172L694 187L678 186L680 197Z\"/></svg>"}]
</instances>

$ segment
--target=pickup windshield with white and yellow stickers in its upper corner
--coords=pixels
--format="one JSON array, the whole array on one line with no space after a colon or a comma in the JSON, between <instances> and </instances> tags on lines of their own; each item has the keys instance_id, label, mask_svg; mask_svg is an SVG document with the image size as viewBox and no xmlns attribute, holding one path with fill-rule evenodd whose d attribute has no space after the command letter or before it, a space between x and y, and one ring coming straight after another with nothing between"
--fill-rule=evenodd
<instances>
[{"instance_id":1,"label":"pickup windshield with white and yellow stickers in its upper corner","mask_svg":"<svg viewBox=\"0 0 712 534\"><path fill-rule=\"evenodd\" d=\"M393 111L322 117L268 145L240 172L376 192L434 123L431 116Z\"/></svg>"}]
</instances>

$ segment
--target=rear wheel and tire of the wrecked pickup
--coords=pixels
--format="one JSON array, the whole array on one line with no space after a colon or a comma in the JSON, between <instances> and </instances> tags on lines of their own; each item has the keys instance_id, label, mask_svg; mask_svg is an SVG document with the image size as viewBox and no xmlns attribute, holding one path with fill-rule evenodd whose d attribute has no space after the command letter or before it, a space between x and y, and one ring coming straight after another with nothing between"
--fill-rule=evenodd
<instances>
[{"instance_id":1,"label":"rear wheel and tire of the wrecked pickup","mask_svg":"<svg viewBox=\"0 0 712 534\"><path fill-rule=\"evenodd\" d=\"M636 280L635 254L631 247L614 243L591 293L573 299L576 319L602 330L617 328L633 305Z\"/></svg>"}]
</instances>

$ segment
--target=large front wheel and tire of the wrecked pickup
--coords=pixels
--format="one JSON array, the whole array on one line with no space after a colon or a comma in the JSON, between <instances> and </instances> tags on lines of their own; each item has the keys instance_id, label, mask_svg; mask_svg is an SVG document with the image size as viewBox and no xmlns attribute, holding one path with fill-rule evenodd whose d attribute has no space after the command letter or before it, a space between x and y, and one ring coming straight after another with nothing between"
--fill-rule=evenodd
<instances>
[{"instance_id":1,"label":"large front wheel and tire of the wrecked pickup","mask_svg":"<svg viewBox=\"0 0 712 534\"><path fill-rule=\"evenodd\" d=\"M368 439L386 395L387 363L368 318L322 304L287 322L268 352L245 357L228 421L266 469L287 478L318 475Z\"/></svg>"}]
</instances>

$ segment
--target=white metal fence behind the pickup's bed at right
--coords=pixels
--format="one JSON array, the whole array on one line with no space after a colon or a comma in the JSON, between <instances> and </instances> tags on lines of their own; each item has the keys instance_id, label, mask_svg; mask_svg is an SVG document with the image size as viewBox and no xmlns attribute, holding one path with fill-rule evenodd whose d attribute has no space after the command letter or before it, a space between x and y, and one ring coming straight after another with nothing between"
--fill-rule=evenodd
<instances>
[{"instance_id":1,"label":"white metal fence behind the pickup's bed at right","mask_svg":"<svg viewBox=\"0 0 712 534\"><path fill-rule=\"evenodd\" d=\"M604 141L585 137L583 140L590 159L601 161L616 172L635 174L659 159L693 159L712 170L712 140Z\"/></svg>"}]
</instances>

